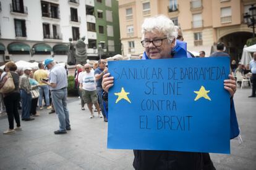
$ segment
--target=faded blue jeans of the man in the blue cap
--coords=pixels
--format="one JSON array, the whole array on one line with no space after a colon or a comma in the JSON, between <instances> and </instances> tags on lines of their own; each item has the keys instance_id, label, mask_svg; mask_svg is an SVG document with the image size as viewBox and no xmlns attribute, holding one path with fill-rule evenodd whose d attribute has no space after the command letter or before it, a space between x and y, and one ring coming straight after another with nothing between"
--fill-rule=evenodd
<instances>
[{"instance_id":1,"label":"faded blue jeans of the man in the blue cap","mask_svg":"<svg viewBox=\"0 0 256 170\"><path fill-rule=\"evenodd\" d=\"M66 128L70 127L69 110L67 110L67 88L52 90L51 98L59 118L59 131L66 131Z\"/></svg>"}]
</instances>

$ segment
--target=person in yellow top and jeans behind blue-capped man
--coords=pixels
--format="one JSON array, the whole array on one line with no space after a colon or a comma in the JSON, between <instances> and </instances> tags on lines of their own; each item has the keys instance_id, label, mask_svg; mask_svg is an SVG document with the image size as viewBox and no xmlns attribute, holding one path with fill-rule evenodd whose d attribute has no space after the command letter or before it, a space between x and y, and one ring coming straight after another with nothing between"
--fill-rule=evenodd
<instances>
[{"instance_id":1,"label":"person in yellow top and jeans behind blue-capped man","mask_svg":"<svg viewBox=\"0 0 256 170\"><path fill-rule=\"evenodd\" d=\"M34 79L39 83L39 108L43 110L43 94L45 94L45 102L47 109L51 109L49 102L49 86L41 82L41 79L48 78L48 72L45 70L43 63L38 63L39 70L34 73Z\"/></svg>"}]
</instances>

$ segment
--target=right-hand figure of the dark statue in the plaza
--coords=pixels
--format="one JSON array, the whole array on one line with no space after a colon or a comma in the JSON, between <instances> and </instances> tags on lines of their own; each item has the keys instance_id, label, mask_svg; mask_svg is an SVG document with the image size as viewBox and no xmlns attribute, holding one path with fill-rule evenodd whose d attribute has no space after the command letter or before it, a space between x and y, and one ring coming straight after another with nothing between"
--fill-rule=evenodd
<instances>
[{"instance_id":1,"label":"right-hand figure of the dark statue in the plaza","mask_svg":"<svg viewBox=\"0 0 256 170\"><path fill-rule=\"evenodd\" d=\"M84 65L87 63L87 52L85 46L85 36L77 40L75 44L75 60L77 64Z\"/></svg>"}]
</instances>

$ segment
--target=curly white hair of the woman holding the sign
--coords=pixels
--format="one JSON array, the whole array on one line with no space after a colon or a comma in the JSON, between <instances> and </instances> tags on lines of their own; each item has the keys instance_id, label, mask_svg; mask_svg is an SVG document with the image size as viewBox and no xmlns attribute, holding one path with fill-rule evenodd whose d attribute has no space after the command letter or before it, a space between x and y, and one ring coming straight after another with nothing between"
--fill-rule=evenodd
<instances>
[{"instance_id":1,"label":"curly white hair of the woman holding the sign","mask_svg":"<svg viewBox=\"0 0 256 170\"><path fill-rule=\"evenodd\" d=\"M166 35L169 42L177 37L177 28L171 19L165 15L156 15L155 17L146 18L142 23L142 39L147 32L155 33L155 31Z\"/></svg>"}]
</instances>

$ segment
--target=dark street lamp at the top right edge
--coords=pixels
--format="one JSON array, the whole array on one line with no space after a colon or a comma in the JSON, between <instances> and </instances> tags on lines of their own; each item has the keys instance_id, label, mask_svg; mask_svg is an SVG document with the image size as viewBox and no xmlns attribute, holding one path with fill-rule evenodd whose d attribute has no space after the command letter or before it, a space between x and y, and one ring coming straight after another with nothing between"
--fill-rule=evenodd
<instances>
[{"instance_id":1,"label":"dark street lamp at the top right edge","mask_svg":"<svg viewBox=\"0 0 256 170\"><path fill-rule=\"evenodd\" d=\"M244 18L246 20L247 26L250 28L252 27L252 38L255 37L255 22L256 22L256 7L252 5L249 8L249 13L246 12L244 14Z\"/></svg>"}]
</instances>

